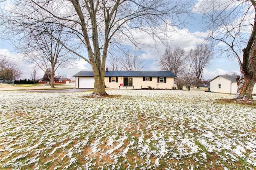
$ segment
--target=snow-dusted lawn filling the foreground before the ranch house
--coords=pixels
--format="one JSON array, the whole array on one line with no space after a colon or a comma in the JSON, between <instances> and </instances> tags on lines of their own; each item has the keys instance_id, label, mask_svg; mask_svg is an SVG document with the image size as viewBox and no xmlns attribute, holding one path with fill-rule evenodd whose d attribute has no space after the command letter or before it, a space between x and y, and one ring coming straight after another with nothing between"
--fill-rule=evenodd
<instances>
[{"instance_id":1,"label":"snow-dusted lawn filling the foreground before the ranch house","mask_svg":"<svg viewBox=\"0 0 256 170\"><path fill-rule=\"evenodd\" d=\"M88 92L91 93L91 92ZM197 91L1 92L0 169L256 169L256 107Z\"/></svg>"}]
</instances>

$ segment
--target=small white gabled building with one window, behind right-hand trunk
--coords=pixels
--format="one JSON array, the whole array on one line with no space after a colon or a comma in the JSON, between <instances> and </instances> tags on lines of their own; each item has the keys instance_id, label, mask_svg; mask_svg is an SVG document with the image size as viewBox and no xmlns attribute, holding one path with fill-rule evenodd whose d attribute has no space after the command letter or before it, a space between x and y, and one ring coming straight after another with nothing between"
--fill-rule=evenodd
<instances>
[{"instance_id":1,"label":"small white gabled building with one window, behind right-hand trunk","mask_svg":"<svg viewBox=\"0 0 256 170\"><path fill-rule=\"evenodd\" d=\"M237 93L236 76L234 75L218 75L210 81L210 91L217 93ZM254 85L252 94L256 94L256 84Z\"/></svg>"}]
</instances>

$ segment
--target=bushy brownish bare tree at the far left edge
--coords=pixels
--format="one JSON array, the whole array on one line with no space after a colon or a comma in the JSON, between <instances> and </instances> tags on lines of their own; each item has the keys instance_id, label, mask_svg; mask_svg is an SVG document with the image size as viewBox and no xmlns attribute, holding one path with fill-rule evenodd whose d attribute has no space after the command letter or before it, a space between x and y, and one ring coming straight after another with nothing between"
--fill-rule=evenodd
<instances>
[{"instance_id":1,"label":"bushy brownish bare tree at the far left edge","mask_svg":"<svg viewBox=\"0 0 256 170\"><path fill-rule=\"evenodd\" d=\"M17 65L4 57L0 58L0 77L8 84L11 84L13 80L20 78L22 71L16 68Z\"/></svg>"}]
</instances>

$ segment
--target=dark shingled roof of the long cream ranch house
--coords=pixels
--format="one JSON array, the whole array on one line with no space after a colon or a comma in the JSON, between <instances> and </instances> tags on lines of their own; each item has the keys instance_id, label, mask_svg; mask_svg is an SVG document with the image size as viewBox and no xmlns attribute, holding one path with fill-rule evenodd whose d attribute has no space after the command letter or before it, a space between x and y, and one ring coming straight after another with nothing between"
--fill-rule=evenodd
<instances>
[{"instance_id":1,"label":"dark shingled roof of the long cream ranch house","mask_svg":"<svg viewBox=\"0 0 256 170\"><path fill-rule=\"evenodd\" d=\"M79 71L74 77L93 77L92 71ZM105 71L105 77L177 77L172 71Z\"/></svg>"}]
</instances>

